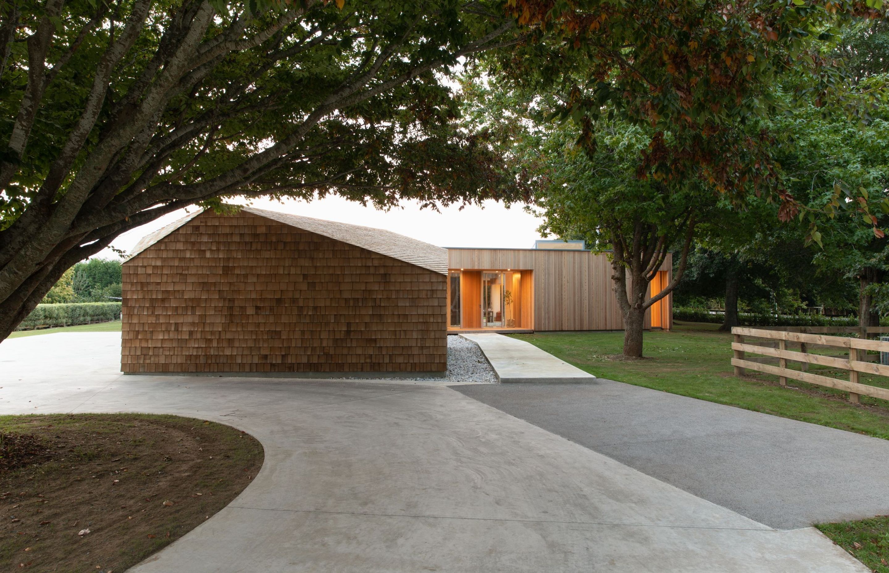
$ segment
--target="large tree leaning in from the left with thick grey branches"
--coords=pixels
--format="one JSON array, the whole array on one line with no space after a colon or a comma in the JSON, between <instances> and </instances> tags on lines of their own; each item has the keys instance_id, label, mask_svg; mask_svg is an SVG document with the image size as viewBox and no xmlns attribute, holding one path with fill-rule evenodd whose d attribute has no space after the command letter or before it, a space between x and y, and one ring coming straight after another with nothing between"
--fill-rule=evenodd
<instances>
[{"instance_id":1,"label":"large tree leaning in from the left with thick grey branches","mask_svg":"<svg viewBox=\"0 0 889 573\"><path fill-rule=\"evenodd\" d=\"M183 206L518 192L454 129L441 74L521 39L485 0L0 3L0 340L75 262Z\"/></svg>"}]
</instances>

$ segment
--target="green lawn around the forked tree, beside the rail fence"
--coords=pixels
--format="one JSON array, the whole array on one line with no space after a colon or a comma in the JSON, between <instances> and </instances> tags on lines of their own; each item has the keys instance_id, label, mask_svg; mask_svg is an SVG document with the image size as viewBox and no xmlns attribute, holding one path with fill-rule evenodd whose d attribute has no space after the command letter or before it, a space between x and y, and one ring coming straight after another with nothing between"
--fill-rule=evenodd
<instances>
[{"instance_id":1,"label":"green lawn around the forked tree, beside the rail fence","mask_svg":"<svg viewBox=\"0 0 889 573\"><path fill-rule=\"evenodd\" d=\"M781 388L777 376L750 371L734 376L732 336L718 332L715 324L677 323L669 332L646 332L641 360L619 358L621 332L513 336L599 377L889 439L885 400L862 396L861 405L853 405L845 399L848 394L831 388L793 380L793 388Z\"/></svg>"}]
</instances>

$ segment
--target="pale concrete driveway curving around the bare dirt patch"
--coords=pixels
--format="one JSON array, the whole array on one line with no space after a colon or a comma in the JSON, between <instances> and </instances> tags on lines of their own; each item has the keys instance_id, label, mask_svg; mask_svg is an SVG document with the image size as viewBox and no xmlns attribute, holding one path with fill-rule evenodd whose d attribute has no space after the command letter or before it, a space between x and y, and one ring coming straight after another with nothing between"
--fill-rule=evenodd
<instances>
[{"instance_id":1,"label":"pale concrete driveway curving around the bare dirt patch","mask_svg":"<svg viewBox=\"0 0 889 573\"><path fill-rule=\"evenodd\" d=\"M132 571L867 570L440 384L124 376L119 345L0 343L0 412L195 416L266 449L241 496Z\"/></svg>"}]
</instances>

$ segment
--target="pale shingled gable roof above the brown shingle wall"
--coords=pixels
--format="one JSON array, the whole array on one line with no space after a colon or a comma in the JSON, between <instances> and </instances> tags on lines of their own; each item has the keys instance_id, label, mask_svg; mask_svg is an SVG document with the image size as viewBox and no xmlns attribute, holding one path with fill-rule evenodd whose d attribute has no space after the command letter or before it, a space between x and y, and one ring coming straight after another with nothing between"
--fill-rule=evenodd
<instances>
[{"instance_id":1,"label":"pale shingled gable roof above the brown shingle wall","mask_svg":"<svg viewBox=\"0 0 889 573\"><path fill-rule=\"evenodd\" d=\"M404 235L393 233L390 230L374 229L372 227L363 227L361 225L349 225L344 222L324 221L323 219L301 217L299 215L266 211L265 209L256 209L253 207L243 207L241 211L284 223L285 225L290 225L297 229L308 230L308 232L315 233L316 235L332 238L342 243L348 243L349 245L358 246L399 261L409 262L410 264L422 267L423 269L433 270L443 275L446 275L448 272L447 249L440 246L430 245L423 241L418 241L415 238L405 237ZM157 241L166 237L172 233L172 231L179 229L182 225L202 213L203 210L188 214L188 216L170 223L163 229L156 230L155 232L146 235L133 247L132 254L130 254L126 260L129 261L149 246L154 245Z\"/></svg>"}]
</instances>

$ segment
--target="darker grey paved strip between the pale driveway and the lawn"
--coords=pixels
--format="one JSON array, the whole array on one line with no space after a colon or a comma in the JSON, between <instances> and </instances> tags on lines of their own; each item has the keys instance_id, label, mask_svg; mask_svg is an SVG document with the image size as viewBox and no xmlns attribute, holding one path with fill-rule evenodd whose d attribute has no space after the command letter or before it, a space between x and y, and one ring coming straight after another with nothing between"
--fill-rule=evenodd
<instances>
[{"instance_id":1,"label":"darker grey paved strip between the pale driveway and the lawn","mask_svg":"<svg viewBox=\"0 0 889 573\"><path fill-rule=\"evenodd\" d=\"M456 388L774 528L889 514L889 440L602 378Z\"/></svg>"}]
</instances>

